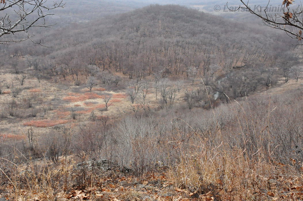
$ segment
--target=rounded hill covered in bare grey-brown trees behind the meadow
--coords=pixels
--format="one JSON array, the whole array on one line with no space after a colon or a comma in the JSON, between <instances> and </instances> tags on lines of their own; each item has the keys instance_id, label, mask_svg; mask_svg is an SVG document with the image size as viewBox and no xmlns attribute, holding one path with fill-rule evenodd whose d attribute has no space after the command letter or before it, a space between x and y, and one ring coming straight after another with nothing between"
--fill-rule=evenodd
<instances>
[{"instance_id":1,"label":"rounded hill covered in bare grey-brown trees behind the meadow","mask_svg":"<svg viewBox=\"0 0 303 201\"><path fill-rule=\"evenodd\" d=\"M28 41L8 52L45 57L42 62L47 68L96 64L126 74L143 69L149 74L165 70L165 74L177 75L196 68L206 76L212 68L228 71L244 64L272 65L279 56L288 55L291 46L286 44L293 42L285 33L268 27L244 25L179 5L150 5L81 21L50 29L41 38L53 48Z\"/></svg>"}]
</instances>

